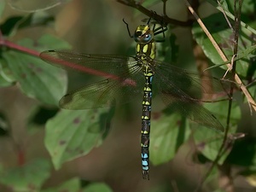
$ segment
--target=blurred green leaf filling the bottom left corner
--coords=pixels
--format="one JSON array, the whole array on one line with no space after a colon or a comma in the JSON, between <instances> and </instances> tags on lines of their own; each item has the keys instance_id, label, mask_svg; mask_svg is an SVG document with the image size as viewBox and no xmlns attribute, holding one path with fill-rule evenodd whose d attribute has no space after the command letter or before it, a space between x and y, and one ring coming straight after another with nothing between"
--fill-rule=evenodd
<instances>
[{"instance_id":1,"label":"blurred green leaf filling the bottom left corner","mask_svg":"<svg viewBox=\"0 0 256 192\"><path fill-rule=\"evenodd\" d=\"M48 160L38 159L0 173L0 182L15 192L38 191L50 176Z\"/></svg>"}]
</instances>

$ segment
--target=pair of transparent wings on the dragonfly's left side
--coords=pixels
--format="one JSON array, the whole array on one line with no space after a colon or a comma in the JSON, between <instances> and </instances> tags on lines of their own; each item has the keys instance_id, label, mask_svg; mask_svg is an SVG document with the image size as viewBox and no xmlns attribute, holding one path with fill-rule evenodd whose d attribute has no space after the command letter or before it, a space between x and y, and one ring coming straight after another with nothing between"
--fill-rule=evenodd
<instances>
[{"instance_id":1,"label":"pair of transparent wings on the dragonfly's left side","mask_svg":"<svg viewBox=\"0 0 256 192\"><path fill-rule=\"evenodd\" d=\"M48 50L40 57L55 67L98 74L108 79L69 92L60 101L61 108L104 108L131 102L143 94L143 73L134 57L92 55L67 50Z\"/></svg>"}]
</instances>

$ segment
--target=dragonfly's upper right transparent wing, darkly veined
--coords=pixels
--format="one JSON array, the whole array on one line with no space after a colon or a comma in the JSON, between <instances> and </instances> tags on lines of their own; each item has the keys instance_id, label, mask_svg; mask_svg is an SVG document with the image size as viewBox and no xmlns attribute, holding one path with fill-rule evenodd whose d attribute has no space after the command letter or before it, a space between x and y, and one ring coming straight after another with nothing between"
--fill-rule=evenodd
<instances>
[{"instance_id":1,"label":"dragonfly's upper right transparent wing, darkly veined","mask_svg":"<svg viewBox=\"0 0 256 192\"><path fill-rule=\"evenodd\" d=\"M184 93L199 102L202 101L202 96L204 101L211 101L216 93L218 96L225 95L226 87L220 79L212 78L204 73L200 75L189 72L163 61L155 61L155 66L155 71L161 74L161 79L166 79L166 83L163 82L162 87L168 92L175 94L176 91L183 90ZM173 82L172 86L170 86L170 82ZM173 86L179 87L179 90L173 89Z\"/></svg>"}]
</instances>

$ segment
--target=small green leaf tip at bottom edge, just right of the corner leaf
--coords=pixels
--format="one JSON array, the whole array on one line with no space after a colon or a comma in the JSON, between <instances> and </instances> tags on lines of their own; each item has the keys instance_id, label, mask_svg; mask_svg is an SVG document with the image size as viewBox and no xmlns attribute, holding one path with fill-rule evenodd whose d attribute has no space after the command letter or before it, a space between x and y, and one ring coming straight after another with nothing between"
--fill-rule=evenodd
<instances>
[{"instance_id":1,"label":"small green leaf tip at bottom edge, just right of the corner leaf","mask_svg":"<svg viewBox=\"0 0 256 192\"><path fill-rule=\"evenodd\" d=\"M78 192L80 190L80 180L79 178L73 178L68 180L65 183L62 183L60 186L50 189L42 190L41 192Z\"/></svg>"}]
</instances>

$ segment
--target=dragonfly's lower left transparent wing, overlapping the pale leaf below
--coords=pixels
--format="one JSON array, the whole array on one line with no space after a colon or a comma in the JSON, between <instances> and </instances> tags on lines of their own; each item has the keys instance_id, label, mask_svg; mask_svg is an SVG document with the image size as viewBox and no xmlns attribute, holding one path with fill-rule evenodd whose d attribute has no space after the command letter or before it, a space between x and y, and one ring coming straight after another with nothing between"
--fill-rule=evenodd
<instances>
[{"instance_id":1,"label":"dragonfly's lower left transparent wing, overlapping the pale leaf below","mask_svg":"<svg viewBox=\"0 0 256 192\"><path fill-rule=\"evenodd\" d=\"M136 96L143 95L143 75L139 68L131 67L129 78L124 73L119 79L105 79L74 90L63 96L61 108L88 109L105 108L116 104L131 102Z\"/></svg>"}]
</instances>

